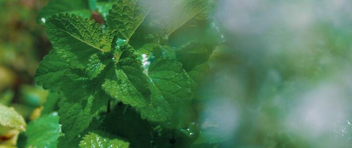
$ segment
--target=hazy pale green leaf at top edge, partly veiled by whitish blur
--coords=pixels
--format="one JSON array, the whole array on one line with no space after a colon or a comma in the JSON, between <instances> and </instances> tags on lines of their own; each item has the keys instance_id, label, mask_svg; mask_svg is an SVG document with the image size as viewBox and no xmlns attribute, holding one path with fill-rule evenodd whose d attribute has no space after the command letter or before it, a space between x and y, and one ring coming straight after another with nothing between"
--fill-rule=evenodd
<instances>
[{"instance_id":1,"label":"hazy pale green leaf at top edge, partly veiled by whitish blur","mask_svg":"<svg viewBox=\"0 0 352 148\"><path fill-rule=\"evenodd\" d=\"M153 4L133 38L153 35L167 39L192 19L209 19L214 10L214 0L157 0Z\"/></svg>"}]
</instances>

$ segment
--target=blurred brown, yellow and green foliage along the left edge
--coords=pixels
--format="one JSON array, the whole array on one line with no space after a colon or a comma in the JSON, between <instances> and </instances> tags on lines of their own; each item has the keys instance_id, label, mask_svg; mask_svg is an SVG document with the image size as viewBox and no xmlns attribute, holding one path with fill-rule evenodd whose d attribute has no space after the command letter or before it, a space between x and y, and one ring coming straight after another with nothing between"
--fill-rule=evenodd
<instances>
[{"instance_id":1,"label":"blurred brown, yellow and green foliage along the left edge","mask_svg":"<svg viewBox=\"0 0 352 148\"><path fill-rule=\"evenodd\" d=\"M0 147L16 147L20 131L47 91L34 85L41 58L51 48L35 18L43 0L0 0ZM22 127L22 128L21 128Z\"/></svg>"}]
</instances>

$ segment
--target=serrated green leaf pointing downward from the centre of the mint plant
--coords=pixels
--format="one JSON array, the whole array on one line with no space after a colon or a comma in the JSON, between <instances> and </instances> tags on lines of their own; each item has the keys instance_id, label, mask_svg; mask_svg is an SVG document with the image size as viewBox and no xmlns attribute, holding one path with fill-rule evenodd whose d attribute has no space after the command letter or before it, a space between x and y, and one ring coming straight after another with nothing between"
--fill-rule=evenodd
<instances>
[{"instance_id":1,"label":"serrated green leaf pointing downward from the centre of the mint plant","mask_svg":"<svg viewBox=\"0 0 352 148\"><path fill-rule=\"evenodd\" d=\"M102 85L111 97L130 104L144 106L149 100L150 91L146 76L142 73L141 62L131 47L122 47L117 63L113 63Z\"/></svg>"}]
</instances>

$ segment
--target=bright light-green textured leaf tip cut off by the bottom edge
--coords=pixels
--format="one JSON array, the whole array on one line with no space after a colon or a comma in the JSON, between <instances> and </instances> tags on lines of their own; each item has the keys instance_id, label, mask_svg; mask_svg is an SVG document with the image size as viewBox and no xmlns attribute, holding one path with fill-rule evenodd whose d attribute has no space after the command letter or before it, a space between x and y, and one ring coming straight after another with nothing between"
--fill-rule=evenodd
<instances>
[{"instance_id":1,"label":"bright light-green textured leaf tip cut off by the bottom edge","mask_svg":"<svg viewBox=\"0 0 352 148\"><path fill-rule=\"evenodd\" d=\"M80 142L80 148L129 148L129 143L113 136L89 132Z\"/></svg>"}]
</instances>

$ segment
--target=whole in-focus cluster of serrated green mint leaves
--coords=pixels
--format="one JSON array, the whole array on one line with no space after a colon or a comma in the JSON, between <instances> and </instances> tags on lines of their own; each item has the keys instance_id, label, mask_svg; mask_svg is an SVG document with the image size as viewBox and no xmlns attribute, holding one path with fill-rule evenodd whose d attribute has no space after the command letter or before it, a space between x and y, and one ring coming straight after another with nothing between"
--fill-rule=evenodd
<instances>
[{"instance_id":1,"label":"whole in-focus cluster of serrated green mint leaves","mask_svg":"<svg viewBox=\"0 0 352 148\"><path fill-rule=\"evenodd\" d=\"M44 110L57 99L59 110L31 122L23 145L190 147L200 132L197 90L221 40L211 23L214 6L212 0L50 0L38 19L53 49L35 79L56 94ZM89 19L92 10L101 24Z\"/></svg>"}]
</instances>

